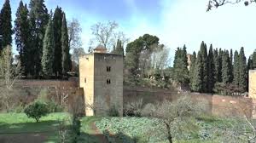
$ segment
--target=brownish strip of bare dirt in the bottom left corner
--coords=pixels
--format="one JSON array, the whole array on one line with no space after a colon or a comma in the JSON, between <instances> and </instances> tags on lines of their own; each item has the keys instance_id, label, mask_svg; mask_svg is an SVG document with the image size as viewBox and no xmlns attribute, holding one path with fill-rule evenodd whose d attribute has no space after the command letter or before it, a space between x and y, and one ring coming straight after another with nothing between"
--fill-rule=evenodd
<instances>
[{"instance_id":1,"label":"brownish strip of bare dirt in the bottom left corner","mask_svg":"<svg viewBox=\"0 0 256 143\"><path fill-rule=\"evenodd\" d=\"M1 143L43 143L47 134L0 134Z\"/></svg>"}]
</instances>

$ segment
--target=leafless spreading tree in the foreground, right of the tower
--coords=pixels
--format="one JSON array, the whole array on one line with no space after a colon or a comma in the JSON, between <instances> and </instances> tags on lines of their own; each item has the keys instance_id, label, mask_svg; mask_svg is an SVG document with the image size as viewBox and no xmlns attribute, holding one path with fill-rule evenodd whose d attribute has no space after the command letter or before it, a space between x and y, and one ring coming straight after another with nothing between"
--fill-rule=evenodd
<instances>
[{"instance_id":1,"label":"leafless spreading tree in the foreground, right of the tower","mask_svg":"<svg viewBox=\"0 0 256 143\"><path fill-rule=\"evenodd\" d=\"M174 134L180 130L181 123L189 124L190 117L195 117L203 112L201 103L195 104L187 95L183 95L172 102L165 100L155 108L150 107L154 110L148 112L148 117L160 119L166 127L166 137L170 143L173 142ZM146 114L143 112L143 115Z\"/></svg>"}]
</instances>

